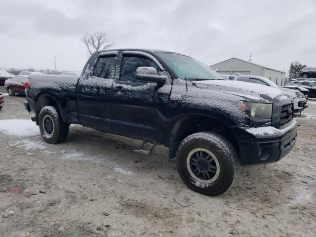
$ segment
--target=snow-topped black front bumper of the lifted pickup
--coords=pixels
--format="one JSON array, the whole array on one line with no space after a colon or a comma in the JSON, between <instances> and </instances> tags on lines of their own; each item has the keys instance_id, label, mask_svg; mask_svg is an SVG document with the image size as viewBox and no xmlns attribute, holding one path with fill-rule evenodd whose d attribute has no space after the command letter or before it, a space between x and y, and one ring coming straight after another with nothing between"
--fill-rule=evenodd
<instances>
[{"instance_id":1,"label":"snow-topped black front bumper of the lifted pickup","mask_svg":"<svg viewBox=\"0 0 316 237\"><path fill-rule=\"evenodd\" d=\"M241 165L273 163L293 149L297 139L297 124L293 119L284 129L235 128L233 132L237 137Z\"/></svg>"}]
</instances>

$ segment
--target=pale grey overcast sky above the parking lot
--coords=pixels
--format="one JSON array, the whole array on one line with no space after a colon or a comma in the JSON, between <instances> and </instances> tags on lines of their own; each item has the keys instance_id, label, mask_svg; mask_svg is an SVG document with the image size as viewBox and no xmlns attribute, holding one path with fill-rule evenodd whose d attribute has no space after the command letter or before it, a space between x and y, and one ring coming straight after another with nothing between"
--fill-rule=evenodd
<instances>
[{"instance_id":1,"label":"pale grey overcast sky above the parking lot","mask_svg":"<svg viewBox=\"0 0 316 237\"><path fill-rule=\"evenodd\" d=\"M81 71L80 36L106 31L115 48L183 53L209 65L252 55L288 71L316 67L316 0L0 0L0 67Z\"/></svg>"}]
</instances>

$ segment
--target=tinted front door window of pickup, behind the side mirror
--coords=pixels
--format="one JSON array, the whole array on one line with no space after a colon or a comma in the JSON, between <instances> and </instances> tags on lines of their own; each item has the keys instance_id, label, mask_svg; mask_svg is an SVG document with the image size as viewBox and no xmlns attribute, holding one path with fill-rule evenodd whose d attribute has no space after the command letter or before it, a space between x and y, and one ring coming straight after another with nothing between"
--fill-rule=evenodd
<instances>
[{"instance_id":1,"label":"tinted front door window of pickup, behind the side mirror","mask_svg":"<svg viewBox=\"0 0 316 237\"><path fill-rule=\"evenodd\" d=\"M120 80L135 81L135 73L139 67L153 67L158 70L157 64L150 59L124 56L120 70Z\"/></svg>"}]
</instances>

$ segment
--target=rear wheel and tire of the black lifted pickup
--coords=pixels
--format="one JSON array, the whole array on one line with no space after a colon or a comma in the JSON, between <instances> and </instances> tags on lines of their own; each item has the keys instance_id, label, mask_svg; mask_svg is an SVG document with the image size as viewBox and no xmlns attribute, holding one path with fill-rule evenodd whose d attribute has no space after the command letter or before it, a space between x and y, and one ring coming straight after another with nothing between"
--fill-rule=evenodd
<instances>
[{"instance_id":1,"label":"rear wheel and tire of the black lifted pickup","mask_svg":"<svg viewBox=\"0 0 316 237\"><path fill-rule=\"evenodd\" d=\"M63 142L69 133L69 124L61 118L59 110L54 106L45 106L39 116L40 134L51 144Z\"/></svg>"}]
</instances>

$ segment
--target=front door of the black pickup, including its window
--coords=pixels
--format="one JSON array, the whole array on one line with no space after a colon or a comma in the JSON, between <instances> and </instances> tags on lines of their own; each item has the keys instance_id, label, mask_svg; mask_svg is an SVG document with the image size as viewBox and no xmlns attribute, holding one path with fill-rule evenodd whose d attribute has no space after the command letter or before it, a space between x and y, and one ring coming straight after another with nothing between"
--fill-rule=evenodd
<instances>
[{"instance_id":1,"label":"front door of the black pickup, including its window","mask_svg":"<svg viewBox=\"0 0 316 237\"><path fill-rule=\"evenodd\" d=\"M152 57L136 51L123 52L119 57L121 68L112 92L112 127L117 134L163 143L170 81L158 88L157 83L135 79L138 67L154 67L158 73L162 72L161 65Z\"/></svg>"}]
</instances>

